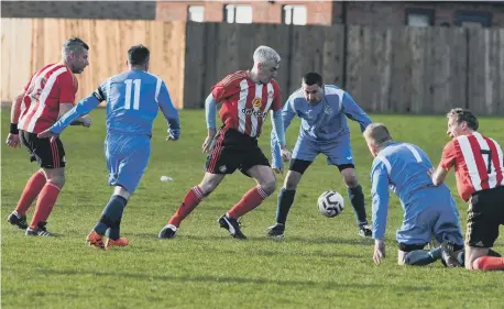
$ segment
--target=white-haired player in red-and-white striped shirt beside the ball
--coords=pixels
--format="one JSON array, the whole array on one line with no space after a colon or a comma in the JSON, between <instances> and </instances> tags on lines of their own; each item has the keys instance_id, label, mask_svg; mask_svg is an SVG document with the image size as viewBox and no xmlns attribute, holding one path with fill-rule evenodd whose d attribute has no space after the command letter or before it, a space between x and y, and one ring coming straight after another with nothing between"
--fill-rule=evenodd
<instances>
[{"instance_id":1,"label":"white-haired player in red-and-white striped shirt beside the ball","mask_svg":"<svg viewBox=\"0 0 504 309\"><path fill-rule=\"evenodd\" d=\"M174 238L182 221L219 186L227 174L237 169L254 178L258 185L219 219L220 227L233 238L246 239L240 230L238 218L253 210L275 191L275 175L258 145L258 137L267 113L273 111L273 126L277 132L282 157L291 157L282 123L281 90L274 79L281 58L273 48L259 46L253 59L251 70L228 75L212 87L206 100L208 136L202 144L204 152L209 152L206 174L201 183L186 194L175 214L161 230L161 239ZM223 124L217 131L218 103L222 106L220 119Z\"/></svg>"}]
</instances>

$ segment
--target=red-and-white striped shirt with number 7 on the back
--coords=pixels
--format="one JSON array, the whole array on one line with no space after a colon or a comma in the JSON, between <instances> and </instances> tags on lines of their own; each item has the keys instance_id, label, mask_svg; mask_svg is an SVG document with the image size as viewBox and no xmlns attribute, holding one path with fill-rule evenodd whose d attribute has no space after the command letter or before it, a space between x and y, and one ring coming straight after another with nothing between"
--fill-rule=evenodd
<instances>
[{"instance_id":1,"label":"red-and-white striped shirt with number 7 on the back","mask_svg":"<svg viewBox=\"0 0 504 309\"><path fill-rule=\"evenodd\" d=\"M475 191L504 186L502 148L494 140L478 132L450 141L442 151L440 166L454 166L457 189L468 201Z\"/></svg>"}]
</instances>

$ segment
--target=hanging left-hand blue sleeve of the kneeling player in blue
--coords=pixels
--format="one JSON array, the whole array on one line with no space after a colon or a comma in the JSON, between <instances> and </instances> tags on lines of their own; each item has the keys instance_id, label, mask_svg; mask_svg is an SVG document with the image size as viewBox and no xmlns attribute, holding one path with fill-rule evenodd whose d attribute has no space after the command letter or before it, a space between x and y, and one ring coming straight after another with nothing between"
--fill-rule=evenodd
<instances>
[{"instance_id":1,"label":"hanging left-hand blue sleeve of the kneeling player in blue","mask_svg":"<svg viewBox=\"0 0 504 309\"><path fill-rule=\"evenodd\" d=\"M375 159L371 169L371 199L373 212L373 239L383 239L388 212L388 173L385 164Z\"/></svg>"}]
</instances>

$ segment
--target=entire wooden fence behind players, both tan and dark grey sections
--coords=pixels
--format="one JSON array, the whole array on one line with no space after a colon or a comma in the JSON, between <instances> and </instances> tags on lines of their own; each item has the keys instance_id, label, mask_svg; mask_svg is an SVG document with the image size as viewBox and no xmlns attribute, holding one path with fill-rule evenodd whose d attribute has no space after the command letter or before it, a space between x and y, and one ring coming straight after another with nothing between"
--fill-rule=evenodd
<instances>
[{"instance_id":1,"label":"entire wooden fence behind players, both tan and dark grey sections","mask_svg":"<svg viewBox=\"0 0 504 309\"><path fill-rule=\"evenodd\" d=\"M251 68L254 48L269 45L282 56L283 99L313 70L370 112L467 107L476 114L504 114L504 29L463 27L2 19L2 101L39 67L59 60L61 44L74 35L91 47L78 98L122 71L128 47L142 43L176 106L201 108L212 85Z\"/></svg>"}]
</instances>

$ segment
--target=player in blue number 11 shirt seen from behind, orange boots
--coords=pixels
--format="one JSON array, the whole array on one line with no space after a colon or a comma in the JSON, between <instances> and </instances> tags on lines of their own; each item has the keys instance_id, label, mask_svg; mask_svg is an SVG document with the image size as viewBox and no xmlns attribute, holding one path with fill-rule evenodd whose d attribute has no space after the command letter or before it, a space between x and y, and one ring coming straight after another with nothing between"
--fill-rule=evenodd
<instances>
[{"instance_id":1,"label":"player in blue number 11 shirt seen from behind, orange boots","mask_svg":"<svg viewBox=\"0 0 504 309\"><path fill-rule=\"evenodd\" d=\"M179 136L178 112L165 82L147 71L149 59L150 52L145 46L132 46L128 51L129 70L108 78L53 126L39 134L39 137L57 136L74 120L106 101L105 153L109 184L114 189L100 220L86 239L89 245L99 249L125 246L129 243L128 239L120 238L121 218L147 166L152 124L160 108L168 121L167 141L176 141ZM107 236L106 243L103 236Z\"/></svg>"}]
</instances>

